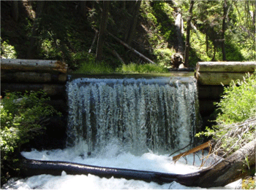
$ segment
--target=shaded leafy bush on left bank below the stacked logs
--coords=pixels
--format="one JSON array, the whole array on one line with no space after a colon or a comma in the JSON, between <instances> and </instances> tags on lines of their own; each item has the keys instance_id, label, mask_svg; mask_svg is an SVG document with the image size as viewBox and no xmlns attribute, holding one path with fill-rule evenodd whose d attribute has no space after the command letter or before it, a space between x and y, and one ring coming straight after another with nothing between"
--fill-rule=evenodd
<instances>
[{"instance_id":1,"label":"shaded leafy bush on left bank below the stacked logs","mask_svg":"<svg viewBox=\"0 0 256 190\"><path fill-rule=\"evenodd\" d=\"M7 92L1 100L1 181L5 180L7 171L18 170L16 150L24 143L41 134L45 117L58 113L45 103L49 98L45 92Z\"/></svg>"}]
</instances>

